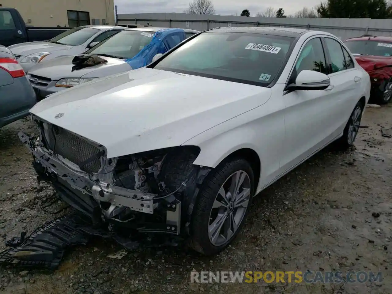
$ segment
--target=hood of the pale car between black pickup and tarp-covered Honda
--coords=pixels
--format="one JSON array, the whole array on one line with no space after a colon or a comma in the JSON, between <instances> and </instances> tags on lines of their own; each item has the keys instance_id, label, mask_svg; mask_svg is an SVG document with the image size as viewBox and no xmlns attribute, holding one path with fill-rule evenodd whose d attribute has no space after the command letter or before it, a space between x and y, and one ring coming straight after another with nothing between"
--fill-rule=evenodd
<instances>
[{"instance_id":1,"label":"hood of the pale car between black pickup and tarp-covered Honda","mask_svg":"<svg viewBox=\"0 0 392 294\"><path fill-rule=\"evenodd\" d=\"M38 42L27 42L27 43L19 43L15 45L11 45L8 47L9 50L13 54L21 55L21 56L28 56L33 53L39 52L53 52L57 50L66 50L71 49L73 46L56 44L51 42L45 41L38 41Z\"/></svg>"}]
</instances>

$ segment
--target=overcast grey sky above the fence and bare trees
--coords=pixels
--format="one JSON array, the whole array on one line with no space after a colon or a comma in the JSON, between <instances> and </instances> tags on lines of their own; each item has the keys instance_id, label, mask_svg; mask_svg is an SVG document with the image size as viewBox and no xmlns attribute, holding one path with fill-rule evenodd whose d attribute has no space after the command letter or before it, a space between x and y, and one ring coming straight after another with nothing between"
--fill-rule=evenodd
<instances>
[{"instance_id":1,"label":"overcast grey sky above the fence and bare trees","mask_svg":"<svg viewBox=\"0 0 392 294\"><path fill-rule=\"evenodd\" d=\"M192 0L114 0L117 5L118 14L122 13L147 13L147 12L176 12L182 13L188 8ZM278 10L283 7L285 15L295 13L307 6L309 8L319 4L318 0L274 0L274 1L257 1L257 0L212 0L217 14L220 15L238 15L243 9L249 9L250 16L263 11L268 6Z\"/></svg>"}]
</instances>

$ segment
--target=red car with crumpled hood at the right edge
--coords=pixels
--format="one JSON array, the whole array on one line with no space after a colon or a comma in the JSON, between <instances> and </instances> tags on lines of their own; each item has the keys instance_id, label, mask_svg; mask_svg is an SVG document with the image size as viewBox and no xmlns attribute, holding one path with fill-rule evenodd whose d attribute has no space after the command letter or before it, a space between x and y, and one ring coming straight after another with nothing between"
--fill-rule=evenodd
<instances>
[{"instance_id":1,"label":"red car with crumpled hood at the right edge","mask_svg":"<svg viewBox=\"0 0 392 294\"><path fill-rule=\"evenodd\" d=\"M370 76L370 100L387 104L392 97L392 37L363 35L344 44Z\"/></svg>"}]
</instances>

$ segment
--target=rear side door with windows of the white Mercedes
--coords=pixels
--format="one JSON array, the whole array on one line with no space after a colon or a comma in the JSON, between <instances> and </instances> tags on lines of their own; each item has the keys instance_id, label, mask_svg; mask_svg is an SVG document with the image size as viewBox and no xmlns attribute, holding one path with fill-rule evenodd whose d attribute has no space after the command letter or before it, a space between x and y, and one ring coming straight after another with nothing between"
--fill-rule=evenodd
<instances>
[{"instance_id":1,"label":"rear side door with windows of the white Mercedes","mask_svg":"<svg viewBox=\"0 0 392 294\"><path fill-rule=\"evenodd\" d=\"M330 37L324 37L322 40L327 52L328 76L333 87L330 92L335 96L334 104L336 106L335 120L331 122L331 131L338 135L343 132L354 106L361 98L359 83L362 74L355 68L350 54L338 40Z\"/></svg>"}]
</instances>

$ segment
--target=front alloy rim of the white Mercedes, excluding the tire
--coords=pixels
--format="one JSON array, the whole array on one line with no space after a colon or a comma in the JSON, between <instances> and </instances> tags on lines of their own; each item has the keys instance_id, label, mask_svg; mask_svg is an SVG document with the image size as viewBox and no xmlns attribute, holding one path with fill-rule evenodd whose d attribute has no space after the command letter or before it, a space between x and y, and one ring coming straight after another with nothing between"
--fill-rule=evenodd
<instances>
[{"instance_id":1,"label":"front alloy rim of the white Mercedes, excluding the tire","mask_svg":"<svg viewBox=\"0 0 392 294\"><path fill-rule=\"evenodd\" d=\"M243 220L250 200L250 178L245 171L225 180L210 212L208 236L215 246L227 243Z\"/></svg>"}]
</instances>

